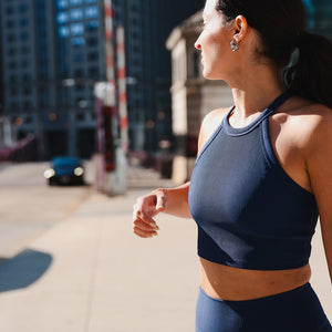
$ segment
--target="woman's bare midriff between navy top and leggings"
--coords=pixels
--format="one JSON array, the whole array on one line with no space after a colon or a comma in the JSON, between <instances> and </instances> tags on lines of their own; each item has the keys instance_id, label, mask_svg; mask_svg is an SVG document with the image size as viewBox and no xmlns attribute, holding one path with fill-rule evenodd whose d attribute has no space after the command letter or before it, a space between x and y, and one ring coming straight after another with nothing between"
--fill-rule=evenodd
<instances>
[{"instance_id":1,"label":"woman's bare midriff between navy top and leggings","mask_svg":"<svg viewBox=\"0 0 332 332\"><path fill-rule=\"evenodd\" d=\"M231 268L200 258L200 287L211 298L245 301L295 289L311 277L310 266L293 270L257 271Z\"/></svg>"}]
</instances>

